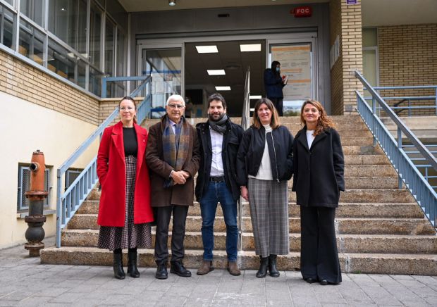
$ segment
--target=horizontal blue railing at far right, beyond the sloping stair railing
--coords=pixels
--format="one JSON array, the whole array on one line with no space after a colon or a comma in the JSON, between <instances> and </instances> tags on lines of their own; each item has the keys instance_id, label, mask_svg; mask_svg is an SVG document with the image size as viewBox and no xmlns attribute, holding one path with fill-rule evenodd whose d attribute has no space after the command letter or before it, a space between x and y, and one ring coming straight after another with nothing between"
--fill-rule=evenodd
<instances>
[{"instance_id":1,"label":"horizontal blue railing at far right, beyond the sloping stair railing","mask_svg":"<svg viewBox=\"0 0 437 307\"><path fill-rule=\"evenodd\" d=\"M366 88L364 88L365 90ZM378 92L378 94L384 99L384 101L388 100L394 100L398 101L393 106L390 106L392 110L395 111L396 114L400 114L403 111L408 111L408 116L414 115L412 112L414 110L433 110L433 112L430 112L429 115L437 115L437 85L424 85L424 86L413 86L413 87L373 87L373 89ZM415 93L420 91L428 91L433 92L433 95L429 96L384 96L381 94L381 92L384 91L395 91L395 92L402 92L404 90L414 90ZM372 97L364 97L366 101L371 101ZM418 104L415 102L412 104L413 101L432 101L432 104ZM404 103L407 105L405 106ZM376 110L381 111L381 106L378 106Z\"/></svg>"}]
</instances>

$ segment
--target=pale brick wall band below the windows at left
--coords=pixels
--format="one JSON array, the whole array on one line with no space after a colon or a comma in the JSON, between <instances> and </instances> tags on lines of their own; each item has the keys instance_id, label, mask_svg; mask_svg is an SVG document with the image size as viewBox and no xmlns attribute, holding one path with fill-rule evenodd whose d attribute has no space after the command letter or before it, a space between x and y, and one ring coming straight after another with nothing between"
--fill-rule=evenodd
<instances>
[{"instance_id":1,"label":"pale brick wall band below the windows at left","mask_svg":"<svg viewBox=\"0 0 437 307\"><path fill-rule=\"evenodd\" d=\"M0 91L97 125L99 101L0 51Z\"/></svg>"}]
</instances>

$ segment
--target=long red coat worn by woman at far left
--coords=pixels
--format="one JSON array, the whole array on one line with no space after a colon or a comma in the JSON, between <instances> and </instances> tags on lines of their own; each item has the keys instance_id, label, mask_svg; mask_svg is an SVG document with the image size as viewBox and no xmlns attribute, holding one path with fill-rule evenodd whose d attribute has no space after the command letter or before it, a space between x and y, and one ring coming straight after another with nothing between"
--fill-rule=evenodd
<instances>
[{"instance_id":1,"label":"long red coat worn by woman at far left","mask_svg":"<svg viewBox=\"0 0 437 307\"><path fill-rule=\"evenodd\" d=\"M153 221L150 206L149 170L145 161L147 130L134 124L137 133L137 173L135 175L134 223ZM123 144L123 124L107 127L101 137L97 154L97 175L101 184L99 217L101 226L125 225L126 171Z\"/></svg>"}]
</instances>

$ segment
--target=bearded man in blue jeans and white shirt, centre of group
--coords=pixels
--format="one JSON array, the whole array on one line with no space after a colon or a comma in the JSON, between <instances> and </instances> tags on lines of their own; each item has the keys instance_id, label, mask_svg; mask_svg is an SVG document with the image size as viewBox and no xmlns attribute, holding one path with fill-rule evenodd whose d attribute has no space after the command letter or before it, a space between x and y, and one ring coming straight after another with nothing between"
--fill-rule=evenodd
<instances>
[{"instance_id":1,"label":"bearded man in blue jeans and white shirt, centre of group","mask_svg":"<svg viewBox=\"0 0 437 307\"><path fill-rule=\"evenodd\" d=\"M205 275L214 270L214 220L217 203L220 201L226 224L228 271L231 275L238 276L237 199L240 197L240 187L235 181L235 163L243 130L226 115L226 101L221 94L209 96L208 115L207 123L196 126L201 159L195 194L202 213L204 246L203 261L197 275Z\"/></svg>"}]
</instances>

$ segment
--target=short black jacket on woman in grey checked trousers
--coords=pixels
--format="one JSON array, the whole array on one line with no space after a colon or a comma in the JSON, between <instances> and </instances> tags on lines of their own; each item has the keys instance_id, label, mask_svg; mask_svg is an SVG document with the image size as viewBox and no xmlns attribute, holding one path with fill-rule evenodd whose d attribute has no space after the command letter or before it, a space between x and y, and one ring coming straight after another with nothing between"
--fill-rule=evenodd
<instances>
[{"instance_id":1,"label":"short black jacket on woman in grey checked trousers","mask_svg":"<svg viewBox=\"0 0 437 307\"><path fill-rule=\"evenodd\" d=\"M290 180L293 175L293 135L285 126L273 129L271 135L273 148L269 147L269 156L273 180ZM265 144L264 127L257 129L252 125L245 131L237 154L237 182L240 186L247 185L247 175L257 175Z\"/></svg>"}]
</instances>

